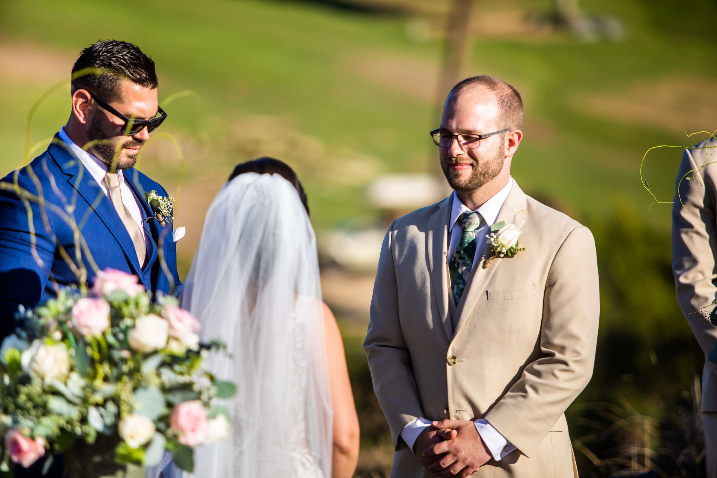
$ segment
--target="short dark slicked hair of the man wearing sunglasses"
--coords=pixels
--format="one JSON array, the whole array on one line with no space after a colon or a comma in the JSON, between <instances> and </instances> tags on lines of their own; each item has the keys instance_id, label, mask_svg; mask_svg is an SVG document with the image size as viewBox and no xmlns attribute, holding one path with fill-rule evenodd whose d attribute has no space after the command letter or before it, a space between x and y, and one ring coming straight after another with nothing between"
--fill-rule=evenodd
<instances>
[{"instance_id":1,"label":"short dark slicked hair of the man wearing sunglasses","mask_svg":"<svg viewBox=\"0 0 717 478\"><path fill-rule=\"evenodd\" d=\"M75 77L77 72L81 76ZM120 99L120 80L147 88L159 85L153 60L136 45L120 40L91 44L72 66L73 93L88 90L106 102L116 101Z\"/></svg>"}]
</instances>

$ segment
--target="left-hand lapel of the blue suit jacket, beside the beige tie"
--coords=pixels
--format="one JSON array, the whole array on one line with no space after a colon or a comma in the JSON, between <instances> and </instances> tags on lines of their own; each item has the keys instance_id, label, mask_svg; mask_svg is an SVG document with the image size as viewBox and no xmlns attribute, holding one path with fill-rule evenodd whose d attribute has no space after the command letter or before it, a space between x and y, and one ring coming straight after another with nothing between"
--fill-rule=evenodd
<instances>
[{"instance_id":1,"label":"left-hand lapel of the blue suit jacket, beside the beige tie","mask_svg":"<svg viewBox=\"0 0 717 478\"><path fill-rule=\"evenodd\" d=\"M113 206L112 201L105 196L102 188L100 188L100 185L95 181L95 178L92 178L92 175L82 166L80 160L65 148L65 143L60 139L59 135L55 135L52 144L49 145L47 150L50 156L54 158L54 161L57 162L57 166L60 166L62 173L65 173L66 176L70 176L67 178L67 182L75 188L75 191L82 196L82 199L87 201L90 208L97 213L98 217L103 221L105 226L107 226L107 229L122 248L125 257L127 257L128 262L138 275L142 284L145 287L149 287L144 274L142 274L142 267L137 259L137 253L134 249L132 239L127 229L125 229L125 225L122 223L120 216L118 216L117 211L115 211L115 206ZM71 204L75 204L74 197L72 198ZM76 216L75 219L82 221L81 217ZM82 228L82 226L83 224L80 224L80 228Z\"/></svg>"}]
</instances>

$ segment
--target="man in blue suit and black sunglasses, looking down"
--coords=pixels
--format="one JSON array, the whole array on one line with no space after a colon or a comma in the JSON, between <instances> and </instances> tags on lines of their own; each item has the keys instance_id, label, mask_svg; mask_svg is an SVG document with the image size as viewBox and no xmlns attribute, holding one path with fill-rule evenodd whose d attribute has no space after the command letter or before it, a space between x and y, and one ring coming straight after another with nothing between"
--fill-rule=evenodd
<instances>
[{"instance_id":1,"label":"man in blue suit and black sunglasses, looking down","mask_svg":"<svg viewBox=\"0 0 717 478\"><path fill-rule=\"evenodd\" d=\"M0 340L19 305L57 287L91 285L108 267L151 292L176 292L171 220L146 193L168 196L137 171L137 155L166 113L153 60L127 42L98 42L72 67L72 112L47 150L0 183ZM171 219L171 218L169 218Z\"/></svg>"}]
</instances>

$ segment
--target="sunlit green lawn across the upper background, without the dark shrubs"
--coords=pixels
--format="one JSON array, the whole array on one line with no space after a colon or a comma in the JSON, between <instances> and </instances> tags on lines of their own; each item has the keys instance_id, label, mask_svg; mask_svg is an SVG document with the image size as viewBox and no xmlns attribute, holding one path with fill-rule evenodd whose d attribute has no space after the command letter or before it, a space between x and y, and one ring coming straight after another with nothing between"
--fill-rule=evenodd
<instances>
[{"instance_id":1,"label":"sunlit green lawn across the upper background, without the dark shrubs","mask_svg":"<svg viewBox=\"0 0 717 478\"><path fill-rule=\"evenodd\" d=\"M64 71L52 65L54 77L61 80L80 47L95 39L139 44L156 59L163 97L186 89L198 95L172 104L166 123L166 130L181 140L206 141L201 156L187 157L190 172L209 166L225 176L232 164L245 159L242 153L281 143L288 130L308 137L322 146L318 157L288 159L308 171L313 219L323 227L371 215L361 200L367 178L341 177L351 176L341 166L346 157L368 156L376 171L437 170L426 132L438 121L440 99L422 85L435 81L441 42L407 39L403 18L352 15L300 2L217 1L201 7L189 1L151 2L132 13L121 3L73 4L75 8L50 1L4 2L0 30L5 48L30 44L65 59ZM563 35L478 35L470 73L498 75L524 92L526 137L514 176L528 191L554 196L577 211L609 211L615 196L646 208L650 201L636 176L642 153L651 145L695 141L674 128L661 128L655 118L635 119L609 108L595 111L594 102L585 105L585 100L619 101L666 79L683 78L685 91L678 87L674 95L689 92L690 80L711 82L717 72L717 65L708 61L714 34L689 29L677 35L678 22L665 21L675 12L660 16L635 2L583 6L622 19L627 40L589 44ZM490 14L485 5L480 8ZM700 12L694 7L690 11ZM708 11L714 8L703 6L702 14ZM687 18L684 12L679 15ZM33 65L39 72L44 66ZM14 77L12 65L8 70L0 106L13 114L0 118L0 140L6 145L3 172L22 157L19 118L53 77L46 72L37 78ZM708 99L713 92L705 92L706 102L713 102ZM655 102L663 104L659 98ZM661 114L668 118L673 112ZM52 95L39 110L34 140L51 135L66 115L66 91ZM237 145L232 131L251 122L252 115L268 115L272 121L260 140ZM655 156L648 168L654 188L668 197L677 161L673 150ZM165 164L156 167L147 161L144 168L170 186L176 178ZM324 168L328 178L313 174Z\"/></svg>"}]
</instances>

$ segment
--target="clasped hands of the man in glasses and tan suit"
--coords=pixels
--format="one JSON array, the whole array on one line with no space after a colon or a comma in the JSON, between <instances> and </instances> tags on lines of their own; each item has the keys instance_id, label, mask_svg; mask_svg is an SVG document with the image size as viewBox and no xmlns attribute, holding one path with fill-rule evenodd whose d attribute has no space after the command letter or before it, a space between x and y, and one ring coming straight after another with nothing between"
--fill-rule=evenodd
<instances>
[{"instance_id":1,"label":"clasped hands of the man in glasses and tan suit","mask_svg":"<svg viewBox=\"0 0 717 478\"><path fill-rule=\"evenodd\" d=\"M434 421L414 443L421 464L437 477L465 478L491 458L473 421Z\"/></svg>"}]
</instances>

